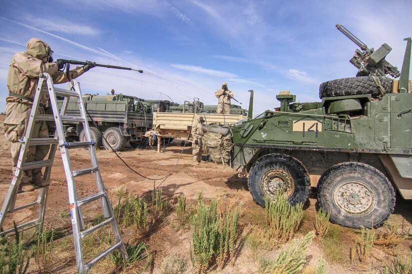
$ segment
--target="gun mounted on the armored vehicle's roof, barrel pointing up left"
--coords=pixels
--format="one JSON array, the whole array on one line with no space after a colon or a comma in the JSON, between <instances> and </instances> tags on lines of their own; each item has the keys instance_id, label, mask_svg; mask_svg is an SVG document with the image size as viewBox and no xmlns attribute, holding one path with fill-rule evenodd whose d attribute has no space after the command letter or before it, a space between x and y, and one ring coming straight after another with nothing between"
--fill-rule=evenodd
<instances>
[{"instance_id":1,"label":"gun mounted on the armored vehicle's roof, barrel pointing up left","mask_svg":"<svg viewBox=\"0 0 412 274\"><path fill-rule=\"evenodd\" d=\"M336 27L362 50L356 49L354 57L350 60L350 62L359 69L356 76L386 76L389 74L393 78L398 78L401 75L397 67L394 67L385 60L385 57L392 50L388 44L383 44L377 50L368 48L364 42L353 35L343 25L336 24Z\"/></svg>"}]
</instances>

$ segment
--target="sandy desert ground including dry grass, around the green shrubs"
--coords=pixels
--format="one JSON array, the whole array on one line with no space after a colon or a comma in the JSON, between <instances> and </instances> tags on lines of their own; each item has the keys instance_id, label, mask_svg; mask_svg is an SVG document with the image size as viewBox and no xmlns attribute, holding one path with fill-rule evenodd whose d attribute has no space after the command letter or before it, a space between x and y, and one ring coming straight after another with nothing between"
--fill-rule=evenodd
<instances>
[{"instance_id":1,"label":"sandy desert ground including dry grass, around the green shrubs","mask_svg":"<svg viewBox=\"0 0 412 274\"><path fill-rule=\"evenodd\" d=\"M2 123L1 123L2 124ZM2 129L1 129L1 132ZM0 135L0 203L2 204L10 185L11 163L9 143ZM119 155L136 171L151 179L142 178L128 169L114 153L101 148L96 150L102 178L113 207L118 203L119 189L140 198L150 204L153 189L162 190L162 200L169 206L157 217L153 217L149 208L149 225L145 233L138 233L132 226L119 225L122 237L126 244L144 242L151 259L149 266L144 269L147 258L118 268L110 259L105 259L91 269L91 273L173 273L165 267L165 261L176 256L183 265L181 273L196 273L197 266L190 260L190 250L193 247L193 225L191 218L195 214L197 197L203 192L203 200L210 204L211 200L219 198L223 205L243 203L239 220L239 238L236 250L223 267L212 262L207 273L259 273L259 258L275 258L284 246L266 245L265 240L265 209L257 205L249 193L247 179L238 178L236 171L222 164L213 162L192 165L191 147L182 145L180 140L174 140L162 146L162 152L156 152L154 147L132 148L126 146ZM66 178L60 158L56 153L52 168L50 186L45 215L44 227L56 232L50 263L44 268L36 266L33 256L27 273L76 273L74 244L70 223L69 205ZM89 154L85 149L70 150L70 159L73 169L84 168L89 163ZM177 164L176 164L177 163ZM164 177L171 170L170 176ZM79 197L91 195L96 191L91 176L76 178ZM35 200L37 191L19 194L19 202ZM177 222L174 205L180 195L187 199L187 220ZM294 238L300 238L309 231L313 231L315 223L316 190L312 191L310 199L304 205L304 216ZM315 237L306 256L306 263L302 273L316 273L321 259L326 260L326 273L384 273L385 266L391 270L391 264L396 256L407 256L411 253L412 228L411 202L397 197L395 212L387 224L375 231L376 235L392 235L393 243L373 246L366 260L359 260L354 252L355 239L360 237L360 230L343 228L330 224L329 232L324 239ZM24 209L7 215L3 225L9 228L12 221L17 224L36 218L37 208ZM86 223L93 222L96 216L101 215L99 203L92 203L83 208ZM256 233L260 231L260 233ZM58 233L57 233L58 232ZM25 232L26 237L30 232ZM100 232L101 233L101 232ZM105 233L105 232L103 232ZM101 234L100 234L101 235ZM93 253L93 248L99 246L99 237L84 241L85 257L87 252ZM378 237L378 236L377 236ZM392 240L391 240L392 239ZM101 241L100 241L101 242ZM286 246L288 243L285 244Z\"/></svg>"}]
</instances>

